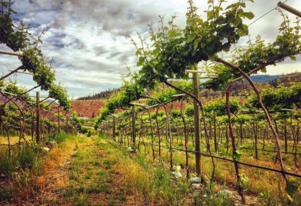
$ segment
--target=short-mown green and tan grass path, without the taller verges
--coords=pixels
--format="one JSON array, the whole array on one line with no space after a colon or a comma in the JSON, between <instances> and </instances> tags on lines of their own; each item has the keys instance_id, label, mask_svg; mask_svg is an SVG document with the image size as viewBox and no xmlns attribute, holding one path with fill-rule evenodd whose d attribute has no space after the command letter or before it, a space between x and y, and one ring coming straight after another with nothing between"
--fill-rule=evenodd
<instances>
[{"instance_id":1,"label":"short-mown green and tan grass path, without the taller verges","mask_svg":"<svg viewBox=\"0 0 301 206\"><path fill-rule=\"evenodd\" d=\"M119 157L104 139L80 139L54 170L43 203L72 205L139 205L119 171ZM120 152L120 151L119 151Z\"/></svg>"}]
</instances>

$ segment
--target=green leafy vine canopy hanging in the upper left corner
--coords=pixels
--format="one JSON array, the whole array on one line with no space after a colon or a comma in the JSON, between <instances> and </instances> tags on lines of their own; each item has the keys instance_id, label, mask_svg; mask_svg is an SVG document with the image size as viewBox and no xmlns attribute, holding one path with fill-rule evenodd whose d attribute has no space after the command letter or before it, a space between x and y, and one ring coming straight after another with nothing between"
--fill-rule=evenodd
<instances>
[{"instance_id":1,"label":"green leafy vine canopy hanging in the upper left corner","mask_svg":"<svg viewBox=\"0 0 301 206\"><path fill-rule=\"evenodd\" d=\"M55 81L55 72L49 61L42 54L39 47L41 41L41 34L34 38L28 32L29 27L21 22L20 25L12 20L12 15L16 14L12 10L13 1L2 1L0 16L0 43L6 44L14 51L21 51L22 56L18 57L22 65L19 69L33 73L33 81L40 86L42 90L48 90ZM13 90L13 88L10 88ZM14 93L14 92L11 92ZM18 94L18 93L16 93Z\"/></svg>"}]
</instances>

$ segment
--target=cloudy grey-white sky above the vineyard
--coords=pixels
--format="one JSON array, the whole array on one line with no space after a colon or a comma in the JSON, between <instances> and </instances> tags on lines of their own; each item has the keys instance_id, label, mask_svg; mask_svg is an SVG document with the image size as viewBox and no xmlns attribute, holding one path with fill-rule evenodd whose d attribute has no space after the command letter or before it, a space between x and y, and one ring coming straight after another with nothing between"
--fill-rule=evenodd
<instances>
[{"instance_id":1,"label":"cloudy grey-white sky above the vineyard","mask_svg":"<svg viewBox=\"0 0 301 206\"><path fill-rule=\"evenodd\" d=\"M289 0L287 4L300 9L300 0ZM236 2L229 0L229 3ZM245 11L252 11L253 22L277 6L278 0L254 0L247 2ZM128 70L124 63L137 70L135 47L126 34L137 38L137 33L145 39L149 37L147 24L157 25L158 15L165 15L167 22L172 15L175 23L185 25L186 0L16 0L13 9L15 22L31 24L31 33L37 36L45 29L41 49L46 57L53 58L56 82L67 88L71 98L93 94L109 88L121 86L121 75ZM205 17L206 0L196 0L198 13ZM285 12L287 13L287 12ZM295 16L288 14L290 19ZM251 39L261 35L267 42L275 40L282 22L279 12L273 10L249 26ZM244 45L246 38L239 42ZM5 45L0 49L9 50ZM0 73L7 73L20 65L12 56L0 56ZM278 66L268 68L267 74L301 71L301 58L286 60ZM20 85L31 88L36 84L32 76L14 76ZM35 91L33 91L35 92ZM42 92L44 93L44 92Z\"/></svg>"}]
</instances>

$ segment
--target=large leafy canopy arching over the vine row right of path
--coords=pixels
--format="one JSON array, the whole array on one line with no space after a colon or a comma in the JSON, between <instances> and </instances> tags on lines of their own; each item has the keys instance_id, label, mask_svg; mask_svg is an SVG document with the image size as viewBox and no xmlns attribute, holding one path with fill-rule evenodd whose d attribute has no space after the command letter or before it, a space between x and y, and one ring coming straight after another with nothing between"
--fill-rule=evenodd
<instances>
[{"instance_id":1,"label":"large leafy canopy arching over the vine row right of path","mask_svg":"<svg viewBox=\"0 0 301 206\"><path fill-rule=\"evenodd\" d=\"M121 91L110 98L106 109L95 122L95 128L117 108L127 107L131 101L138 99L146 88L154 89L159 82L165 82L167 78L187 79L187 68L192 68L202 60L214 59L220 51L229 51L232 43L247 35L247 26L242 23L242 19L252 18L253 15L243 11L245 4L238 2L224 9L221 7L222 3L223 1L218 7L214 7L213 1L210 1L206 11L207 17L202 19L197 14L193 2L189 1L184 29L174 25L174 16L168 22L168 26L163 24L163 17L160 17L158 33L155 34L152 27L149 28L150 41L153 42L152 50L148 45L143 45L141 36L141 48L138 48L137 43L130 37L137 48L137 66L141 66L141 69L138 73L131 73L130 82L125 82ZM159 98L165 101L172 93L160 93Z\"/></svg>"}]
</instances>

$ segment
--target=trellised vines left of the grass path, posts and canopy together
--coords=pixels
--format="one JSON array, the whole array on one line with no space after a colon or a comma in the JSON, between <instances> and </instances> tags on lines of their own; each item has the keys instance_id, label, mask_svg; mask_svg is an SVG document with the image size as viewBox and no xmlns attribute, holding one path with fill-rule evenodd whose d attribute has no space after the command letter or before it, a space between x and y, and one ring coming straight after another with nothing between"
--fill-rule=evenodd
<instances>
[{"instance_id":1,"label":"trellised vines left of the grass path, posts and canopy together","mask_svg":"<svg viewBox=\"0 0 301 206\"><path fill-rule=\"evenodd\" d=\"M60 133L77 133L81 130L80 119L68 112L70 100L61 83L55 83L55 70L52 59L45 57L41 51L41 37L32 36L30 27L14 22L12 15L13 1L0 2L0 43L6 45L2 56L17 56L20 66L0 77L0 149L8 148L8 156L30 142L50 142L57 140ZM13 50L10 52L8 50ZM27 88L12 80L18 72L32 76L36 86ZM48 91L48 95L31 96L35 89ZM48 101L46 101L48 100ZM17 142L11 137L18 136ZM15 147L15 149L13 148ZM5 171L0 171L5 172Z\"/></svg>"}]
</instances>

